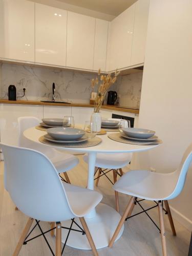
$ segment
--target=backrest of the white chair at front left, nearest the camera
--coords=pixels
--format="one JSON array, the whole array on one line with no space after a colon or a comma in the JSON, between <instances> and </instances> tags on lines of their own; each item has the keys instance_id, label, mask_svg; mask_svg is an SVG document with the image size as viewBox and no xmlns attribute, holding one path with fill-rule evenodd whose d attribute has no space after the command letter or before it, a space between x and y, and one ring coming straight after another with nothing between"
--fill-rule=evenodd
<instances>
[{"instance_id":1,"label":"backrest of the white chair at front left, nearest the camera","mask_svg":"<svg viewBox=\"0 0 192 256\"><path fill-rule=\"evenodd\" d=\"M75 217L58 173L45 155L29 148L0 146L6 164L7 189L24 214L54 222Z\"/></svg>"}]
</instances>

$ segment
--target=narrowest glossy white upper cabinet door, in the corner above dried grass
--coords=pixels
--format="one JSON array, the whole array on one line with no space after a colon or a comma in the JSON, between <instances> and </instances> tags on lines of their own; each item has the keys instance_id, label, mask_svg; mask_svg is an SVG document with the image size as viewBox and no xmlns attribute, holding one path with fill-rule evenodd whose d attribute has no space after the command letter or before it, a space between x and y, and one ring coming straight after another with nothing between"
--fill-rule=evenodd
<instances>
[{"instance_id":1,"label":"narrowest glossy white upper cabinet door, in the corner above dried grass","mask_svg":"<svg viewBox=\"0 0 192 256\"><path fill-rule=\"evenodd\" d=\"M105 71L106 45L108 42L108 22L96 18L95 23L95 47L93 69Z\"/></svg>"}]
</instances>

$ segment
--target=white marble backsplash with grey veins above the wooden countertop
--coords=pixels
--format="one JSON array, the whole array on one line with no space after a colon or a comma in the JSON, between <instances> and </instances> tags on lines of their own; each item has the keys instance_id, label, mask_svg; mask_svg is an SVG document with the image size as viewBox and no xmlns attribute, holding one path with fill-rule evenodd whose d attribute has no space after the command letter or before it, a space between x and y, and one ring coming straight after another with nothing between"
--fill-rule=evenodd
<instances>
[{"instance_id":1,"label":"white marble backsplash with grey veins above the wooden countertop","mask_svg":"<svg viewBox=\"0 0 192 256\"><path fill-rule=\"evenodd\" d=\"M52 83L55 82L56 100L74 103L89 103L91 79L96 74L80 73L46 67L0 64L0 98L8 99L8 87L14 84L17 96L26 96L21 100L51 100ZM110 90L127 95L130 106L140 104L142 73L119 76Z\"/></svg>"}]
</instances>

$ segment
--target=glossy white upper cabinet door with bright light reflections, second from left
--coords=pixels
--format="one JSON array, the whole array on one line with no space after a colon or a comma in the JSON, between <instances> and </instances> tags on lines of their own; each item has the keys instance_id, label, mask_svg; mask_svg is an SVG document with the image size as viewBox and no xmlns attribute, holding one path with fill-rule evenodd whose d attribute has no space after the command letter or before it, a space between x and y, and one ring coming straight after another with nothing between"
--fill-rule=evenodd
<instances>
[{"instance_id":1,"label":"glossy white upper cabinet door with bright light reflections, second from left","mask_svg":"<svg viewBox=\"0 0 192 256\"><path fill-rule=\"evenodd\" d=\"M35 62L66 66L67 11L35 4Z\"/></svg>"}]
</instances>

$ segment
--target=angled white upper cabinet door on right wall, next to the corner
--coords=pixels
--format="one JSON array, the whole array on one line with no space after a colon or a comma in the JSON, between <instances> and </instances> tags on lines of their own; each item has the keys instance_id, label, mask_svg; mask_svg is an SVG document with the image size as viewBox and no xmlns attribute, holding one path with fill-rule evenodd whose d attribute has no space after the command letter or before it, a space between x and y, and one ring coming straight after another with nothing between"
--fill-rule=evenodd
<instances>
[{"instance_id":1,"label":"angled white upper cabinet door on right wall, next to the corner","mask_svg":"<svg viewBox=\"0 0 192 256\"><path fill-rule=\"evenodd\" d=\"M109 71L131 65L135 4L111 22L109 44Z\"/></svg>"}]
</instances>

